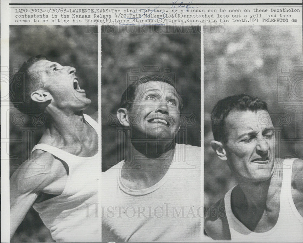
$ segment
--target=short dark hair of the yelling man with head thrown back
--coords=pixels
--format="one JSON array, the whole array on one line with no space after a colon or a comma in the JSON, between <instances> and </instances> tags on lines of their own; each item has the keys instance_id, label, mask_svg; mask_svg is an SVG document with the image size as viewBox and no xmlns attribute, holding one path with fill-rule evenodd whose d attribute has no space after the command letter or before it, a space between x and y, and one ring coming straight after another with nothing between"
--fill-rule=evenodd
<instances>
[{"instance_id":1,"label":"short dark hair of the yelling man with head thrown back","mask_svg":"<svg viewBox=\"0 0 303 243\"><path fill-rule=\"evenodd\" d=\"M10 94L10 100L18 110L21 112L33 112L38 111L36 105L31 99L32 92L43 88L44 83L40 79L39 73L29 73L28 69L36 62L40 60L48 60L44 55L32 56L26 62L23 63L17 73L14 74L12 79L12 91ZM17 78L18 76L18 78ZM21 79L23 85L16 85L16 81ZM24 89L24 90L23 90ZM24 101L24 102L20 102Z\"/></svg>"}]
</instances>

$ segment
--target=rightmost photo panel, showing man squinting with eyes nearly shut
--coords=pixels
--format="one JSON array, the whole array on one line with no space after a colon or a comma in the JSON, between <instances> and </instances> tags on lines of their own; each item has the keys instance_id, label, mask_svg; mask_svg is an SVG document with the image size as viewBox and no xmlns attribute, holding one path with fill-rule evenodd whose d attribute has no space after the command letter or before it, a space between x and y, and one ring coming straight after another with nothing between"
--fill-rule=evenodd
<instances>
[{"instance_id":1,"label":"rightmost photo panel, showing man squinting with eyes nearly shut","mask_svg":"<svg viewBox=\"0 0 303 243\"><path fill-rule=\"evenodd\" d=\"M204 34L204 230L303 241L302 26Z\"/></svg>"}]
</instances>

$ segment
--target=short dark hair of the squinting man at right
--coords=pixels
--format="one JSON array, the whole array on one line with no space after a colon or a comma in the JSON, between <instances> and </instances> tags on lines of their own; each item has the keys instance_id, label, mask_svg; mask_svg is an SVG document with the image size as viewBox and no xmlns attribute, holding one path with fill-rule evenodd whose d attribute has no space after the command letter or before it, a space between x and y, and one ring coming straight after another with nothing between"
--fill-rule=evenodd
<instances>
[{"instance_id":1,"label":"short dark hair of the squinting man at right","mask_svg":"<svg viewBox=\"0 0 303 243\"><path fill-rule=\"evenodd\" d=\"M261 101L258 97L252 97L248 94L236 94L218 101L211 112L211 128L216 141L227 143L228 134L225 120L232 110L250 110L255 112L266 110L268 112L265 101Z\"/></svg>"}]
</instances>

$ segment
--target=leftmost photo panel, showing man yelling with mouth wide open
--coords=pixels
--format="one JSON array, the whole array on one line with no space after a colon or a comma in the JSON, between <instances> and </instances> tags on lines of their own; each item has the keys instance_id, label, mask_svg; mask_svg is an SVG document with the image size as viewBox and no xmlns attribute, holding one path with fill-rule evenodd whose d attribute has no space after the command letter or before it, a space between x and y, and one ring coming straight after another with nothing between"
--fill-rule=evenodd
<instances>
[{"instance_id":1,"label":"leftmost photo panel, showing man yelling with mouth wide open","mask_svg":"<svg viewBox=\"0 0 303 243\"><path fill-rule=\"evenodd\" d=\"M100 241L98 34L9 30L10 242Z\"/></svg>"}]
</instances>

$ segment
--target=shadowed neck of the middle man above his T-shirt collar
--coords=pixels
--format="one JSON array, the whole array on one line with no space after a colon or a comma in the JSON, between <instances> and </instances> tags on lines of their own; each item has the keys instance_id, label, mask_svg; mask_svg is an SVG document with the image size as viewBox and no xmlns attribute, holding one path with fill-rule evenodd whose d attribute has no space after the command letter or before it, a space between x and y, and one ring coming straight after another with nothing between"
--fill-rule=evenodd
<instances>
[{"instance_id":1,"label":"shadowed neck of the middle man above his T-shirt collar","mask_svg":"<svg viewBox=\"0 0 303 243\"><path fill-rule=\"evenodd\" d=\"M166 174L174 153L173 142L133 142L122 166L123 182L131 189L151 187Z\"/></svg>"}]
</instances>

